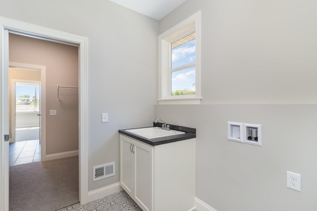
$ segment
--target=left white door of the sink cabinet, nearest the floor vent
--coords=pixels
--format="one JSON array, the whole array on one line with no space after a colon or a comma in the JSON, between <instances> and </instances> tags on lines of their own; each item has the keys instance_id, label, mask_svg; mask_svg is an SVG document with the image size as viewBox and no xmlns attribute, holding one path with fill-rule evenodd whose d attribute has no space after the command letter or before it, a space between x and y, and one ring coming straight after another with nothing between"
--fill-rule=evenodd
<instances>
[{"instance_id":1,"label":"left white door of the sink cabinet, nearest the floor vent","mask_svg":"<svg viewBox=\"0 0 317 211\"><path fill-rule=\"evenodd\" d=\"M131 139L120 135L120 184L132 197L134 193L134 154Z\"/></svg>"}]
</instances>

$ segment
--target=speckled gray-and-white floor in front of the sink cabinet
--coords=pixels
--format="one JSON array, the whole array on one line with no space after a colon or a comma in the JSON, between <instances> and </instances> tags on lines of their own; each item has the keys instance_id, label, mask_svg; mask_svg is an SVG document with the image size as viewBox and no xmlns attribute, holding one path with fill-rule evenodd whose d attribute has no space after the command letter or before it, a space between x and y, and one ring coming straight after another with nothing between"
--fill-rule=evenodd
<instances>
[{"instance_id":1,"label":"speckled gray-and-white floor in front of the sink cabinet","mask_svg":"<svg viewBox=\"0 0 317 211\"><path fill-rule=\"evenodd\" d=\"M142 211L123 190L85 205L75 204L58 211Z\"/></svg>"}]
</instances>

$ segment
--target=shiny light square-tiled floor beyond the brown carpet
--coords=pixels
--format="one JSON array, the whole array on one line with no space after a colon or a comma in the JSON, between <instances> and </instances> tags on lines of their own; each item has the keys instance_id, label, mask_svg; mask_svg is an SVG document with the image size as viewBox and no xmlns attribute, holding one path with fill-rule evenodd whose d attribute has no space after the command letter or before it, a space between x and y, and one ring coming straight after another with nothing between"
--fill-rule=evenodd
<instances>
[{"instance_id":1,"label":"shiny light square-tiled floor beyond the brown carpet","mask_svg":"<svg viewBox=\"0 0 317 211\"><path fill-rule=\"evenodd\" d=\"M38 139L9 144L9 166L38 161L41 161L41 144Z\"/></svg>"}]
</instances>

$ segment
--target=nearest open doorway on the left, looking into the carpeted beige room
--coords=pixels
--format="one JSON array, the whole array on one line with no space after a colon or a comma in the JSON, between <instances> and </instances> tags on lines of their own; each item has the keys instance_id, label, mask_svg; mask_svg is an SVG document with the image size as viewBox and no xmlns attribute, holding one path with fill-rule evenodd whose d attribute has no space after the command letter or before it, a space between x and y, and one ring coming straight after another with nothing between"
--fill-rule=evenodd
<instances>
[{"instance_id":1,"label":"nearest open doorway on the left, looking into the carpeted beige room","mask_svg":"<svg viewBox=\"0 0 317 211\"><path fill-rule=\"evenodd\" d=\"M23 48L21 45L23 45ZM9 168L9 206L13 210L22 208L25 210L58 210L78 203L78 91L61 89L59 91L59 100L56 98L56 84L78 85L78 46L9 33L9 52L10 62L32 62L33 64L43 64L46 67L46 81L45 84L41 85L41 88L46 88L46 92L41 92L40 89L42 71L19 69L20 73L25 73L16 74L13 79L18 78L21 80L23 78L25 81L15 81L14 85L11 85L12 89L15 89L15 94L12 96L14 101L12 106L15 105L15 109L12 109L12 113L15 112L15 129L12 129L12 133L15 132L15 146L13 144L9 145L9 155L15 152L16 154L19 153L19 157L17 157L13 166ZM23 64L21 66L23 67ZM32 72L40 72L41 75L36 75ZM9 79L10 77L9 72ZM36 77L40 78L41 81L26 81L30 78L36 80ZM45 100L39 94L45 96ZM43 107L44 103L47 105L47 109ZM46 135L45 141L42 142L46 142L45 153L44 150L40 153L42 143L40 144L37 141L39 138L39 120L41 118L41 116L37 115L40 114L41 108L43 111L41 114L44 115L46 113ZM54 114L52 114L52 111L55 111ZM38 137L34 137L35 135ZM22 144L19 145L19 143ZM41 154L45 157L44 159L41 159ZM74 159L66 159L68 157L74 157ZM16 155L10 156L10 159L15 158ZM51 161L59 159L63 159L63 162L59 165L60 168L74 167L67 170L72 175L72 181L64 182L65 180L60 180L63 170L57 170L54 165L49 165L52 164ZM76 160L77 162L75 162ZM58 163L59 161L56 162ZM48 171L42 171L44 167ZM22 181L20 177L14 176L21 169L24 171ZM36 176L33 174L34 171L37 172ZM52 175L50 171L55 171L55 173ZM37 178L37 176L39 177ZM45 178L48 177L54 183L63 184L58 187L61 192L59 200L54 197L57 186L50 187L45 185L45 183L48 183ZM37 178L35 183L33 182L34 178ZM21 190L30 190L33 186L37 187L36 192L32 191L27 195L21 193ZM39 204L35 202L30 203L31 205L28 207L23 205L29 202L28 197L38 198L38 194L41 195L42 200L49 201L45 206L39 208ZM67 201L63 199L67 199ZM17 200L21 203L20 205L15 203Z\"/></svg>"}]
</instances>

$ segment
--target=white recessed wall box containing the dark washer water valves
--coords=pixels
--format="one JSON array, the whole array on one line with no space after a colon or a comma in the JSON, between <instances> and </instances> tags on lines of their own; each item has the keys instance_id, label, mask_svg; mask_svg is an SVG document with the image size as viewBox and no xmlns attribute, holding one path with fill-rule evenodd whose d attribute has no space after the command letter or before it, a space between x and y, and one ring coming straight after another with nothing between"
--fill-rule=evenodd
<instances>
[{"instance_id":1,"label":"white recessed wall box containing the dark washer water valves","mask_svg":"<svg viewBox=\"0 0 317 211\"><path fill-rule=\"evenodd\" d=\"M243 124L244 143L262 146L262 126L256 124Z\"/></svg>"}]
</instances>

